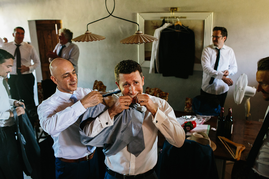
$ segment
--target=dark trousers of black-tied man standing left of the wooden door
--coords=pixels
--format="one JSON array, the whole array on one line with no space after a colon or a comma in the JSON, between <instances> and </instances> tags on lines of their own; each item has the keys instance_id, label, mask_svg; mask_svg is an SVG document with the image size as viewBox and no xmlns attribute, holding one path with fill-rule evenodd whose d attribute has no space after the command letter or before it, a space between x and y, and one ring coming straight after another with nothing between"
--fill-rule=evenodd
<instances>
[{"instance_id":1,"label":"dark trousers of black-tied man standing left of the wooden door","mask_svg":"<svg viewBox=\"0 0 269 179\"><path fill-rule=\"evenodd\" d=\"M33 86L35 77L33 73L25 75L10 75L8 79L12 99L24 100L24 104L35 105Z\"/></svg>"}]
</instances>

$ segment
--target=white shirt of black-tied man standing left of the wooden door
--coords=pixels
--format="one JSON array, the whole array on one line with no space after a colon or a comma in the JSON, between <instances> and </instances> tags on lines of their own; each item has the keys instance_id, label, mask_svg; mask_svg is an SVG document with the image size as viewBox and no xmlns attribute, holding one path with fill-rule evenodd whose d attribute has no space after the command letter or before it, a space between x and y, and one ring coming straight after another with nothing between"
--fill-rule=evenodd
<instances>
[{"instance_id":1,"label":"white shirt of black-tied man standing left of the wooden door","mask_svg":"<svg viewBox=\"0 0 269 179\"><path fill-rule=\"evenodd\" d=\"M15 50L17 46L15 45L15 41L9 42L9 43L4 43L3 49L7 50L9 53L11 53L14 56ZM21 46L20 48L20 53L21 53L21 65L25 65L26 67L29 67L29 71L26 71L22 74L29 74L32 73L33 70L35 70L37 67L40 66L40 59L39 55L37 54L36 50L32 45L29 45L25 42L20 43ZM33 60L33 65L31 64L31 60ZM16 62L17 62L17 55L15 56L14 59L14 65L12 67L12 72L10 72L10 75L17 75L17 70L16 70Z\"/></svg>"}]
</instances>

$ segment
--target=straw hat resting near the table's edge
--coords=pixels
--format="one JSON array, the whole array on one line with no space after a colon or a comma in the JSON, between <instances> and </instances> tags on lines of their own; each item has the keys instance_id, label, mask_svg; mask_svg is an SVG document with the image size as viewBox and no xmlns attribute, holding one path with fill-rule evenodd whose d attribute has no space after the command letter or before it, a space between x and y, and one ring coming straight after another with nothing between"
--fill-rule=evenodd
<instances>
[{"instance_id":1,"label":"straw hat resting near the table's edge","mask_svg":"<svg viewBox=\"0 0 269 179\"><path fill-rule=\"evenodd\" d=\"M204 145L208 144L212 148L213 151L217 148L216 144L213 141L211 141L208 135L204 132L193 132L192 135L188 137L187 139L196 141Z\"/></svg>"}]
</instances>

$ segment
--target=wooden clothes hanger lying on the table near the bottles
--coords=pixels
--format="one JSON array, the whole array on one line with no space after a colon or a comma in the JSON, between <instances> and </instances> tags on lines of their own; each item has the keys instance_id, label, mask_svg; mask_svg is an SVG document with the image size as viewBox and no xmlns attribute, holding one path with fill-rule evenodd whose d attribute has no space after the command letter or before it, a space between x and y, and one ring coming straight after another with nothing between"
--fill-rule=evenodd
<instances>
[{"instance_id":1,"label":"wooden clothes hanger lying on the table near the bottles","mask_svg":"<svg viewBox=\"0 0 269 179\"><path fill-rule=\"evenodd\" d=\"M223 143L223 145L226 147L226 149L230 152L230 154L232 155L232 157L239 161L240 157L241 157L241 152L246 148L244 145L239 144L239 143L234 143L233 141L230 141L229 139L222 137L222 136L218 136L219 140ZM230 146L227 144L230 143L233 146L236 147L236 154L233 153L232 149L230 148Z\"/></svg>"}]
</instances>

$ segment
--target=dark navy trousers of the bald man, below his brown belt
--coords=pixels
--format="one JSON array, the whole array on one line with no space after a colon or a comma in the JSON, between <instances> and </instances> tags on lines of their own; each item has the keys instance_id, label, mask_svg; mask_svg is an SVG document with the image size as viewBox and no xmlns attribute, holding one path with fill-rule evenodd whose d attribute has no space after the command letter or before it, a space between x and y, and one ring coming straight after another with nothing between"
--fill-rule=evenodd
<instances>
[{"instance_id":1,"label":"dark navy trousers of the bald man, below his brown belt","mask_svg":"<svg viewBox=\"0 0 269 179\"><path fill-rule=\"evenodd\" d=\"M79 179L98 179L98 157L95 152L93 158L88 161L67 163L55 159L56 179L57 178L79 178Z\"/></svg>"}]
</instances>

